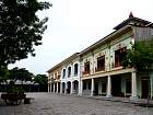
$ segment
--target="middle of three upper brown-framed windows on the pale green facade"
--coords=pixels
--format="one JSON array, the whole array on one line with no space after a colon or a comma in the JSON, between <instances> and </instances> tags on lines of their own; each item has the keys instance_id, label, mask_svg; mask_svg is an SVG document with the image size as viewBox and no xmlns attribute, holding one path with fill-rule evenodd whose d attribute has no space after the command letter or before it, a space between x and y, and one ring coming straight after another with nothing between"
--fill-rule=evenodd
<instances>
[{"instance_id":1,"label":"middle of three upper brown-framed windows on the pale green facade","mask_svg":"<svg viewBox=\"0 0 153 115\"><path fill-rule=\"evenodd\" d=\"M105 70L105 56L101 56L97 58L97 68L95 71L102 71Z\"/></svg>"}]
</instances>

